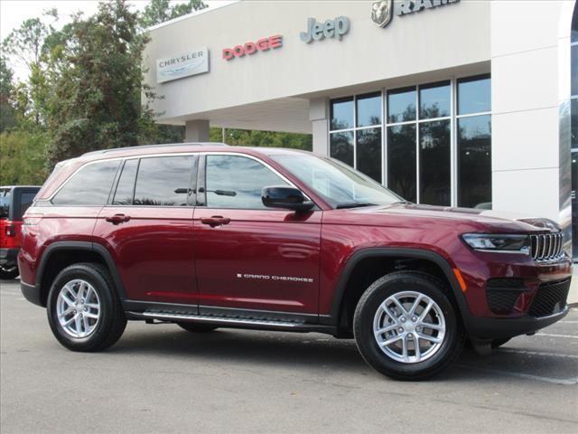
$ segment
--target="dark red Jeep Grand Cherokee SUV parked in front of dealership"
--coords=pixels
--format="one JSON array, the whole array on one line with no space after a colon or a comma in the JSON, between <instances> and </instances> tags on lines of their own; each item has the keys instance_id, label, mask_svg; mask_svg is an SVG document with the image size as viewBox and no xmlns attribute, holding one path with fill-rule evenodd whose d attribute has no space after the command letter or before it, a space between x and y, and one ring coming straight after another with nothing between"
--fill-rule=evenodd
<instances>
[{"instance_id":1,"label":"dark red Jeep Grand Cherokee SUV parked in front of dealership","mask_svg":"<svg viewBox=\"0 0 578 434\"><path fill-rule=\"evenodd\" d=\"M564 317L560 227L407 203L324 156L140 146L57 166L23 223L24 296L74 351L126 320L355 337L380 373L440 372Z\"/></svg>"}]
</instances>

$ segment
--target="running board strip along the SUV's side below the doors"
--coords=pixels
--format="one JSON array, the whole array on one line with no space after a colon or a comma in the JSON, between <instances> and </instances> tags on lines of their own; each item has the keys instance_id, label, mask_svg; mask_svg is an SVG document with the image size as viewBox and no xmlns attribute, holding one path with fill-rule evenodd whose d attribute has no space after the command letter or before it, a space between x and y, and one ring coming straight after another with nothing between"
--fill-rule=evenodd
<instances>
[{"instance_id":1,"label":"running board strip along the SUV's side below the doors","mask_svg":"<svg viewBox=\"0 0 578 434\"><path fill-rule=\"evenodd\" d=\"M294 321L274 321L267 319L232 318L228 316L189 315L167 312L126 312L126 316L135 319L157 319L168 322L210 323L222 327L250 328L288 332L318 332L333 335L335 327L331 325L307 324Z\"/></svg>"}]
</instances>

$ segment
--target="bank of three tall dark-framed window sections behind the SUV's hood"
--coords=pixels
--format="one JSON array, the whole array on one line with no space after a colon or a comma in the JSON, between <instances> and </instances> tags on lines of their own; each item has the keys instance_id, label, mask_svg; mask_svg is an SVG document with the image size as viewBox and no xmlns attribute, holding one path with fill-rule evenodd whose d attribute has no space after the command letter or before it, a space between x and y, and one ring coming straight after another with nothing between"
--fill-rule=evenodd
<instances>
[{"instance_id":1,"label":"bank of three tall dark-framed window sections behind the SUV's hood","mask_svg":"<svg viewBox=\"0 0 578 434\"><path fill-rule=\"evenodd\" d=\"M385 124L384 184L408 201L447 206L453 204L455 143L457 204L490 207L491 80L486 74L455 83L455 109L450 80L388 90L385 119L378 93L331 100L331 156L381 182Z\"/></svg>"}]
</instances>

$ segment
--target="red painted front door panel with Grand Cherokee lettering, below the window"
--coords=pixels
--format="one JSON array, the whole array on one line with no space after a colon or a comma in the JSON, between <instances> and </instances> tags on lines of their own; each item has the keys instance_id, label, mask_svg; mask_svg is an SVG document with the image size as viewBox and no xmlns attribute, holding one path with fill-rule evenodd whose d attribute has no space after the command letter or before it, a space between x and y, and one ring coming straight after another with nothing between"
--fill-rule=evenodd
<instances>
[{"instance_id":1,"label":"red painted front door panel with Grand Cherokee lettering, below the window","mask_svg":"<svg viewBox=\"0 0 578 434\"><path fill-rule=\"evenodd\" d=\"M212 216L231 222L214 228L200 222ZM296 215L197 207L194 233L200 304L316 314L321 221L322 212ZM283 279L287 277L307 281Z\"/></svg>"}]
</instances>

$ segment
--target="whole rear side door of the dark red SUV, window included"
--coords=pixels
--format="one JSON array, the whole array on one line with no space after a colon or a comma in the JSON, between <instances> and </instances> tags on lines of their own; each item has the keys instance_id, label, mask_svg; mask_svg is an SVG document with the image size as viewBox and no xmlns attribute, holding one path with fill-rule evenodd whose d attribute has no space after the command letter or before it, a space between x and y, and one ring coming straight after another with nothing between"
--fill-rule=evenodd
<instances>
[{"instance_id":1,"label":"whole rear side door of the dark red SUV, window included","mask_svg":"<svg viewBox=\"0 0 578 434\"><path fill-rule=\"evenodd\" d=\"M196 164L193 155L123 163L94 235L113 254L130 300L193 305L196 312L191 203Z\"/></svg>"}]
</instances>

